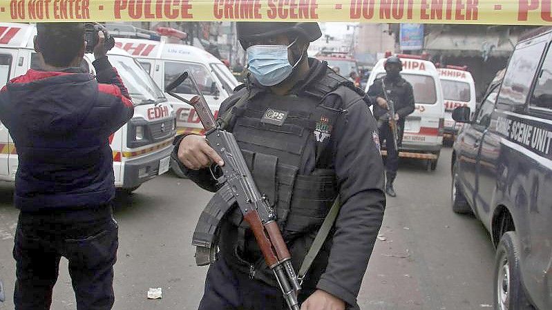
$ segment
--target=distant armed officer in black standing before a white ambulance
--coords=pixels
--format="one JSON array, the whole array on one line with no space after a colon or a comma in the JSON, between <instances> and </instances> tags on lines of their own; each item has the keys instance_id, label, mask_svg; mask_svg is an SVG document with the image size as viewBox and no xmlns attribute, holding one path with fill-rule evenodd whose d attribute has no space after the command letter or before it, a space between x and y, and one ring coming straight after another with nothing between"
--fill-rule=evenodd
<instances>
[{"instance_id":1,"label":"distant armed officer in black standing before a white ambulance","mask_svg":"<svg viewBox=\"0 0 552 310\"><path fill-rule=\"evenodd\" d=\"M386 142L386 193L391 197L397 196L393 188L393 182L397 177L399 168L399 150L395 146L400 146L404 122L410 113L415 110L414 93L412 85L401 77L403 65L401 59L397 56L391 56L384 65L386 75L374 81L374 84L368 89L370 101L374 104L374 117L379 123L379 140L383 144ZM394 115L390 115L389 101L394 104ZM392 120L397 125L397 141L394 141L392 132ZM391 125L391 126L390 126Z\"/></svg>"}]
</instances>

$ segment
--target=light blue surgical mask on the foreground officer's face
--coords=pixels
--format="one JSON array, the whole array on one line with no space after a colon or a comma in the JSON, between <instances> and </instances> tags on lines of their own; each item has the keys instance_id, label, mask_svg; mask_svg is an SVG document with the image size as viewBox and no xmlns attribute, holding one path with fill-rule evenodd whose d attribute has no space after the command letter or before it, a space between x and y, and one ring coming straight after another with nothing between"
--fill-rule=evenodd
<instances>
[{"instance_id":1,"label":"light blue surgical mask on the foreground officer's face","mask_svg":"<svg viewBox=\"0 0 552 310\"><path fill-rule=\"evenodd\" d=\"M289 75L301 58L292 66L287 58L287 49L285 45L255 45L247 48L247 64L257 81L264 86L274 86L280 84Z\"/></svg>"}]
</instances>

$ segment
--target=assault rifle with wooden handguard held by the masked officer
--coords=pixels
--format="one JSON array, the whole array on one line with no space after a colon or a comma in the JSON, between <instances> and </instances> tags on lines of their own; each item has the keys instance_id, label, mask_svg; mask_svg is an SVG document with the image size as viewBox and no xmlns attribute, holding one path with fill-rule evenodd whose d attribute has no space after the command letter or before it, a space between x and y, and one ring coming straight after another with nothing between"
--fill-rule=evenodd
<instances>
[{"instance_id":1,"label":"assault rifle with wooden handguard held by the masked officer","mask_svg":"<svg viewBox=\"0 0 552 310\"><path fill-rule=\"evenodd\" d=\"M199 94L190 100L172 93L172 90L186 79L190 79L193 88ZM220 177L216 177L215 173L211 171L219 184L224 185L207 204L194 232L192 244L197 246L196 263L204 265L216 260L217 246L213 241L216 235L214 231L229 206L233 202L237 202L244 220L251 226L251 231L263 252L267 266L276 276L287 306L291 310L299 310L297 293L301 289L301 284L293 269L291 255L282 238L280 228L276 224L274 210L267 203L267 198L259 192L234 135L222 130L217 124L198 84L189 72L182 73L180 77L165 87L165 91L196 109L205 129L207 141L225 162L224 166L220 167L222 169ZM227 209L216 209L217 204L224 204ZM202 220L206 217L209 220Z\"/></svg>"}]
</instances>

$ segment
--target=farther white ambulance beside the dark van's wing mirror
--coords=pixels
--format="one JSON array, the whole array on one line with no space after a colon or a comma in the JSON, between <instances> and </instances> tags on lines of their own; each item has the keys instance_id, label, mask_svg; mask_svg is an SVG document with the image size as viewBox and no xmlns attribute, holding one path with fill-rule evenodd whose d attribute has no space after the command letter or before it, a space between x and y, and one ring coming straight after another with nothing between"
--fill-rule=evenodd
<instances>
[{"instance_id":1,"label":"farther white ambulance beside the dark van's wing mirror","mask_svg":"<svg viewBox=\"0 0 552 310\"><path fill-rule=\"evenodd\" d=\"M475 111L475 83L467 67L446 66L438 68L443 98L445 100L445 128L443 138L453 142L459 126L453 120L453 110L459 106L468 106Z\"/></svg>"}]
</instances>

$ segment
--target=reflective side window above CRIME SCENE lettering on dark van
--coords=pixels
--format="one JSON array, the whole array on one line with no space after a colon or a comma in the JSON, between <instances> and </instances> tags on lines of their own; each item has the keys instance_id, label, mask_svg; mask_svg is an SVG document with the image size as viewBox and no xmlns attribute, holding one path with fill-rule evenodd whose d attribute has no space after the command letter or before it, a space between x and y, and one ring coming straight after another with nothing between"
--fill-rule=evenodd
<instances>
[{"instance_id":1,"label":"reflective side window above CRIME SCENE lettering on dark van","mask_svg":"<svg viewBox=\"0 0 552 310\"><path fill-rule=\"evenodd\" d=\"M499 105L524 106L545 46L546 43L541 41L513 52L498 95Z\"/></svg>"}]
</instances>

